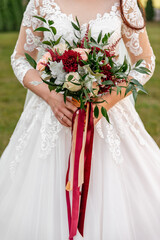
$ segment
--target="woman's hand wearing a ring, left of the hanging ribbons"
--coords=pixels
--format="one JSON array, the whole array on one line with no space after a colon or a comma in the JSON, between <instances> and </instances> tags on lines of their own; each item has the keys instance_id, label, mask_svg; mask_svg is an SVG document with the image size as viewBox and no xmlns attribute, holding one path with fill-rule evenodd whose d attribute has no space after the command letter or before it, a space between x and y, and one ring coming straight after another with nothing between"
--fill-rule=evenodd
<instances>
[{"instance_id":1,"label":"woman's hand wearing a ring, left of the hanging ribbons","mask_svg":"<svg viewBox=\"0 0 160 240\"><path fill-rule=\"evenodd\" d=\"M67 98L65 103L63 94L53 90L50 92L47 102L58 121L66 127L71 127L73 113L77 110L72 101Z\"/></svg>"}]
</instances>

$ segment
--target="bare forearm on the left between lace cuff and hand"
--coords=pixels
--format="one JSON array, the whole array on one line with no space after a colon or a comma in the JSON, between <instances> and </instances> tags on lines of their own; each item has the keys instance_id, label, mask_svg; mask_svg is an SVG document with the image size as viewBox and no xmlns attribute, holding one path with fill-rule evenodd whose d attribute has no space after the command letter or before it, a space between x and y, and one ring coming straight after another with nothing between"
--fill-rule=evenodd
<instances>
[{"instance_id":1,"label":"bare forearm on the left between lace cuff and hand","mask_svg":"<svg viewBox=\"0 0 160 240\"><path fill-rule=\"evenodd\" d=\"M34 92L36 95L41 97L43 100L48 102L49 95L50 95L50 90L45 83L41 83L37 86L33 85L31 82L36 81L36 82L42 82L39 72L35 69L29 70L24 79L23 79L23 84L26 88Z\"/></svg>"}]
</instances>

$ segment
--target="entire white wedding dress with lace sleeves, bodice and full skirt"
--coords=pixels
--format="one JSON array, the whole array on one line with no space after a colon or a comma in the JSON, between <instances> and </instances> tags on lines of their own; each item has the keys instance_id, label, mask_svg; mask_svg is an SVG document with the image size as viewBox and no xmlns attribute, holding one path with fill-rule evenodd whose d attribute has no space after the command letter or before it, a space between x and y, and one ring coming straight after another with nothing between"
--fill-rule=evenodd
<instances>
[{"instance_id":1,"label":"entire white wedding dress with lace sleeves, bodice and full skirt","mask_svg":"<svg viewBox=\"0 0 160 240\"><path fill-rule=\"evenodd\" d=\"M123 1L132 25L142 26L136 0ZM75 38L72 14L62 13L54 0L31 0L24 13L19 39L12 55L18 80L31 66L24 53L36 55L37 42L47 39L33 30L40 15L53 19L57 37ZM116 53L126 46L134 64L154 71L155 58L146 30L132 30L120 15L119 2L106 1L103 15L89 21L93 37L103 30L114 31L110 43L120 37ZM87 23L82 24L82 35ZM36 39L36 41L35 41ZM131 70L145 84L151 76ZM96 124L91 179L86 208L84 238L74 240L159 240L160 239L160 150L145 130L129 97L109 110ZM0 159L0 240L67 240L68 219L65 176L71 145L71 129L62 126L47 103L31 94L16 129Z\"/></svg>"}]
</instances>

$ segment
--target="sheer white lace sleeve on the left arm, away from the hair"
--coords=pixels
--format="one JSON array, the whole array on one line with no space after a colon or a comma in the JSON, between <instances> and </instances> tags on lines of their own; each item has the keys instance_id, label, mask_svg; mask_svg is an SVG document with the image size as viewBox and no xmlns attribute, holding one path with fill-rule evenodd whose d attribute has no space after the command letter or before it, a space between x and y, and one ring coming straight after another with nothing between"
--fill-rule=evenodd
<instances>
[{"instance_id":1,"label":"sheer white lace sleeve on the left arm, away from the hair","mask_svg":"<svg viewBox=\"0 0 160 240\"><path fill-rule=\"evenodd\" d=\"M40 20L33 17L34 15L38 15L38 9L39 1L30 0L26 11L24 12L19 37L14 52L11 56L11 65L13 71L23 86L25 74L28 70L33 69L27 62L25 53L29 53L34 59L36 59L36 47L38 42L43 38L42 33L34 32L34 29L42 25Z\"/></svg>"}]
</instances>

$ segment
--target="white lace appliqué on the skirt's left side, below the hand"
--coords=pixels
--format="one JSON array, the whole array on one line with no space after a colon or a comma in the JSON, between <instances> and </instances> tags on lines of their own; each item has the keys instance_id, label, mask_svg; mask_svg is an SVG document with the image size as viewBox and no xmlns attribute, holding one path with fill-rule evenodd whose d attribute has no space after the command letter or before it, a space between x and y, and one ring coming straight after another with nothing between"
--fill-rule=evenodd
<instances>
[{"instance_id":1,"label":"white lace appliqu\u00e9 on the skirt's left side, below the hand","mask_svg":"<svg viewBox=\"0 0 160 240\"><path fill-rule=\"evenodd\" d=\"M43 158L45 160L51 150L56 146L56 140L59 137L60 131L62 129L65 130L66 128L58 122L50 106L40 97L33 95L30 101L32 102L32 105L30 103L27 104L27 107L22 113L16 126L14 134L10 139L10 141L16 143L15 158L10 162L9 166L12 180L14 180L16 176L19 164L24 159L25 151L27 151L29 147L28 143L31 144L31 141L33 141L33 130L37 130L37 133L40 132L40 142L32 143L33 146L30 151L33 151L35 147L38 147L38 158ZM68 128L67 130L69 131ZM36 144L38 146L36 146Z\"/></svg>"}]
</instances>

